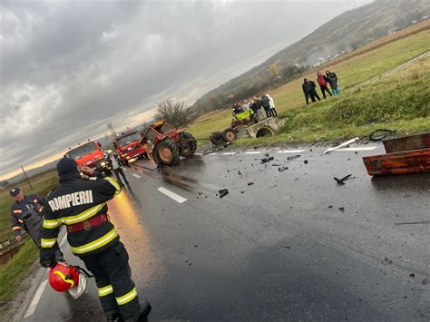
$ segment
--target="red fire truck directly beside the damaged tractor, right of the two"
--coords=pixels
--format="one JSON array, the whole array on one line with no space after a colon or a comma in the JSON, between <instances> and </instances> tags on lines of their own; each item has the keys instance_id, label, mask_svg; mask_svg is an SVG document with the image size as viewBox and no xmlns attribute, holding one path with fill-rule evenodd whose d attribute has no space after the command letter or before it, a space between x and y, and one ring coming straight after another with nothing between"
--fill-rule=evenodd
<instances>
[{"instance_id":1,"label":"red fire truck directly beside the damaged tractor, right of the two","mask_svg":"<svg viewBox=\"0 0 430 322\"><path fill-rule=\"evenodd\" d=\"M145 146L142 145L142 135L136 130L130 130L117 134L113 139L113 145L118 151L122 164L127 165L134 158L147 158Z\"/></svg>"}]
</instances>

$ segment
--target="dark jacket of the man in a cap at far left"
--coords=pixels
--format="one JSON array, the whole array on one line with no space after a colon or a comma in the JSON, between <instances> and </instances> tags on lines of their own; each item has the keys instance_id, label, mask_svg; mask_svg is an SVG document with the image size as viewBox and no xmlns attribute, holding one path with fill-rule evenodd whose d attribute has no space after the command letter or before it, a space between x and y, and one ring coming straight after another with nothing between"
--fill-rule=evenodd
<instances>
[{"instance_id":1,"label":"dark jacket of the man in a cap at far left","mask_svg":"<svg viewBox=\"0 0 430 322\"><path fill-rule=\"evenodd\" d=\"M45 198L37 194L24 196L23 202L15 201L11 207L12 230L19 235L24 228L40 247L40 229L44 213Z\"/></svg>"}]
</instances>

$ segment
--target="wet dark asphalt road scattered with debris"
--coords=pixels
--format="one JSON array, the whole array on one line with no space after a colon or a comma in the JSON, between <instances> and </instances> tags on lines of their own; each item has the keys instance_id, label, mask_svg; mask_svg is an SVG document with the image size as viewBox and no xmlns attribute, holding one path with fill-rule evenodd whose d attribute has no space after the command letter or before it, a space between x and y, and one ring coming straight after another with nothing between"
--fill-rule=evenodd
<instances>
[{"instance_id":1,"label":"wet dark asphalt road scattered with debris","mask_svg":"<svg viewBox=\"0 0 430 322\"><path fill-rule=\"evenodd\" d=\"M430 320L430 225L396 225L430 220L430 175L372 179L361 157L382 148L322 151L132 163L109 205L150 320ZM26 318L89 319L103 320L93 282L77 301L44 288Z\"/></svg>"}]
</instances>

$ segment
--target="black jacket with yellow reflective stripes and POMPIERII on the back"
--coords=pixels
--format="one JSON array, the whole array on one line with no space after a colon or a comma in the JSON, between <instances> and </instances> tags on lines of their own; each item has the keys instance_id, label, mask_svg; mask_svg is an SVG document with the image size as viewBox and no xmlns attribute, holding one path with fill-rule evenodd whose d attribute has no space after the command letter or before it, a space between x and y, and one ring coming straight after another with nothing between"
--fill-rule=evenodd
<instances>
[{"instance_id":1,"label":"black jacket with yellow reflective stripes and POMPIERII on the back","mask_svg":"<svg viewBox=\"0 0 430 322\"><path fill-rule=\"evenodd\" d=\"M60 187L51 191L44 210L41 257L53 252L61 225L73 225L100 214L107 214L107 200L121 192L118 181L103 178L101 173L83 180L78 173L60 177ZM84 257L107 249L120 239L112 222L67 232L67 241L74 255Z\"/></svg>"}]
</instances>

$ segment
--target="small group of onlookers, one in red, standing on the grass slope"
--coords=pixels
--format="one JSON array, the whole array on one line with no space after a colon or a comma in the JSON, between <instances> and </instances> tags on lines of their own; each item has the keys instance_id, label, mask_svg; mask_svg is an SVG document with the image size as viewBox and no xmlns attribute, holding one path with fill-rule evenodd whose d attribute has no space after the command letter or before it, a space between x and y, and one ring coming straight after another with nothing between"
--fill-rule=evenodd
<instances>
[{"instance_id":1,"label":"small group of onlookers, one in red, standing on the grass slope","mask_svg":"<svg viewBox=\"0 0 430 322\"><path fill-rule=\"evenodd\" d=\"M325 75L322 73L317 73L317 82L324 99L326 99L326 92L330 96L340 95L340 86L339 80L337 78L337 73L332 73L330 71L327 71ZM328 89L327 84L330 85L331 92ZM309 98L312 102L317 102L317 100L321 101L317 93L317 84L315 82L311 81L308 78L305 78L305 81L301 85L301 88L303 89L303 93L305 94L305 100L307 104L309 103Z\"/></svg>"}]
</instances>

